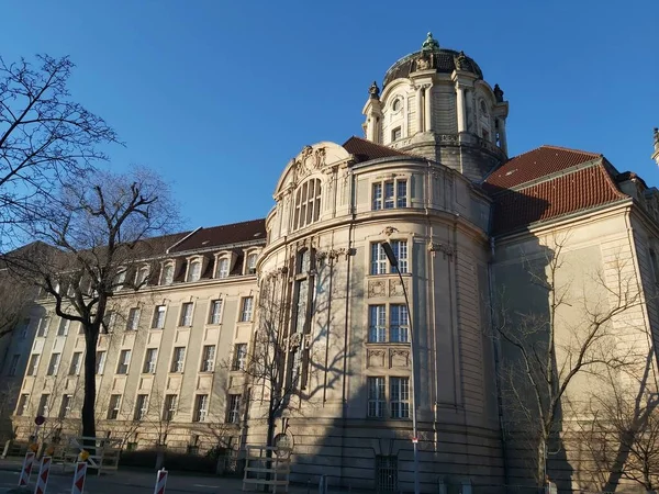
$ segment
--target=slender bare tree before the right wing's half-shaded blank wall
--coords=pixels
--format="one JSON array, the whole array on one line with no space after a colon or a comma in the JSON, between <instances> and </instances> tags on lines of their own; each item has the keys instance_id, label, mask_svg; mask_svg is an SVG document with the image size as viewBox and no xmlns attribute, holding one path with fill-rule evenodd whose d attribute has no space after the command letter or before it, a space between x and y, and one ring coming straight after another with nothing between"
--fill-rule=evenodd
<instances>
[{"instance_id":1,"label":"slender bare tree before the right wing's half-shaded blank wall","mask_svg":"<svg viewBox=\"0 0 659 494\"><path fill-rule=\"evenodd\" d=\"M597 270L577 287L574 268L567 262L568 240L569 235L555 236L540 259L524 258L533 285L526 290L539 296L521 296L515 305L500 293L493 324L504 355L500 383L509 427L530 441L525 453L533 459L538 485L546 480L548 456L562 448L562 406L572 385L637 357L632 346L616 345L621 333L615 327L643 303L632 267L616 256L606 273Z\"/></svg>"}]
</instances>

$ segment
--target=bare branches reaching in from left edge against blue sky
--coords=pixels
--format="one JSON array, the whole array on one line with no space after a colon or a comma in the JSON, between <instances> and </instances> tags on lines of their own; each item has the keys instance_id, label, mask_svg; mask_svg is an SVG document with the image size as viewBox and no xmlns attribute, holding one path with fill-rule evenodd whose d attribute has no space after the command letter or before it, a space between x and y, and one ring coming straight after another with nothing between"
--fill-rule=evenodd
<instances>
[{"instance_id":1,"label":"bare branches reaching in from left edge against blue sky","mask_svg":"<svg viewBox=\"0 0 659 494\"><path fill-rule=\"evenodd\" d=\"M100 145L116 143L105 122L70 100L74 64L37 56L0 57L0 238L38 217L60 183L76 181L107 156Z\"/></svg>"}]
</instances>

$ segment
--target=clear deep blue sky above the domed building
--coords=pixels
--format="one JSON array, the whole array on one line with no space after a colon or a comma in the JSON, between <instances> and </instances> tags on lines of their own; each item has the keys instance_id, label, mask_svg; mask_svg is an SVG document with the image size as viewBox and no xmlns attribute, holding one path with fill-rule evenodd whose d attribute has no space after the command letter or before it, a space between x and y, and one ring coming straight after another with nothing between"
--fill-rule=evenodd
<instances>
[{"instance_id":1,"label":"clear deep blue sky above the domed building","mask_svg":"<svg viewBox=\"0 0 659 494\"><path fill-rule=\"evenodd\" d=\"M409 5L407 8L403 5ZM427 31L473 57L510 101L512 155L603 153L659 184L659 2L7 2L5 59L69 55L70 89L174 183L189 227L263 217L306 144L361 135L373 79Z\"/></svg>"}]
</instances>

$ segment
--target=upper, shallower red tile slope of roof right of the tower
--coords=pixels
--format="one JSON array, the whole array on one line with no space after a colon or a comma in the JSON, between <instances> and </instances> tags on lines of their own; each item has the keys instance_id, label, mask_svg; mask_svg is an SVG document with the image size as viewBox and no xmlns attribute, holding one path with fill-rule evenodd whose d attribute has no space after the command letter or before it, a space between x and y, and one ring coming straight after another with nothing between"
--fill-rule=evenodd
<instances>
[{"instance_id":1,"label":"upper, shallower red tile slope of roof right of the tower","mask_svg":"<svg viewBox=\"0 0 659 494\"><path fill-rule=\"evenodd\" d=\"M540 146L503 164L485 179L483 188L495 192L518 187L597 158L602 158L602 155L557 146Z\"/></svg>"}]
</instances>

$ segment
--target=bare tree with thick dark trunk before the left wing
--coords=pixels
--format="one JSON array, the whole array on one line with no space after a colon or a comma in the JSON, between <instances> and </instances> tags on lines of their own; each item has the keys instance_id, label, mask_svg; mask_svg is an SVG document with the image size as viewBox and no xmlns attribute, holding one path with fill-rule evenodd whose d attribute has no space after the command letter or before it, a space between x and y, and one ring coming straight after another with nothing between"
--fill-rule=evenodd
<instances>
[{"instance_id":1,"label":"bare tree with thick dark trunk before the left wing","mask_svg":"<svg viewBox=\"0 0 659 494\"><path fill-rule=\"evenodd\" d=\"M58 316L82 326L85 436L96 436L96 349L108 329L109 301L149 283L157 273L156 256L178 238L154 236L175 226L175 204L157 175L99 172L66 186L34 224L34 237L53 248L5 256L19 279L38 287Z\"/></svg>"}]
</instances>

